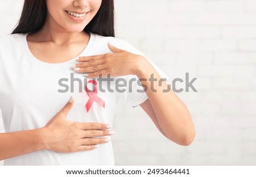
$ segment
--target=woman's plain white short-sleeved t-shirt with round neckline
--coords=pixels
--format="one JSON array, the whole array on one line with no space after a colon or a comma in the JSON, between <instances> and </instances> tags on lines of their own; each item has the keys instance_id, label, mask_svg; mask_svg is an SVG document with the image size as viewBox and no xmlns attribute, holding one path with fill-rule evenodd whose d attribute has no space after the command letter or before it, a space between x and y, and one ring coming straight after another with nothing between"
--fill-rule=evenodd
<instances>
[{"instance_id":1,"label":"woman's plain white short-sleeved t-shirt with round neckline","mask_svg":"<svg viewBox=\"0 0 256 177\"><path fill-rule=\"evenodd\" d=\"M136 75L113 77L114 81L110 82L113 91L108 90L107 82L98 81L101 85L98 85L97 96L104 100L105 108L94 102L87 112L85 104L89 96L84 86L90 79L70 69L70 66L77 62L69 60L59 64L49 64L38 60L30 52L26 36L27 34L14 34L0 37L0 108L6 132L44 127L63 108L70 96L73 96L75 104L67 119L110 125L113 124L117 102L126 102L135 107L147 99L146 93L141 92L142 87L137 82L133 82L132 87L119 87L119 90L126 88L125 92L118 92L115 89L115 81L118 78L125 79L129 83L132 78L138 79ZM117 48L141 54L124 40L90 33L89 43L79 56L110 53L108 42ZM168 78L152 61L150 62L162 78ZM73 82L73 90L72 77L76 80ZM77 81L79 79L80 81ZM123 82L123 80L119 81L119 85ZM103 88L101 91L100 86ZM101 144L97 149L77 153L36 151L6 159L4 165L114 165L114 154L112 142L108 142Z\"/></svg>"}]
</instances>

